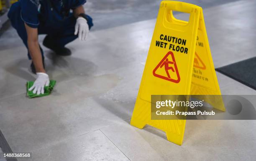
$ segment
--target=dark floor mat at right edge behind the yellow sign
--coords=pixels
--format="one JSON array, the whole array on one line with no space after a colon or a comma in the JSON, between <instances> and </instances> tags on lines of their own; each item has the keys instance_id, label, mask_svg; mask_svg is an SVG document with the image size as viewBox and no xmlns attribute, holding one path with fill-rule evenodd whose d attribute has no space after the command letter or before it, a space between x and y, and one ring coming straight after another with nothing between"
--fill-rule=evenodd
<instances>
[{"instance_id":1,"label":"dark floor mat at right edge behind the yellow sign","mask_svg":"<svg viewBox=\"0 0 256 161\"><path fill-rule=\"evenodd\" d=\"M256 57L217 68L216 71L256 90Z\"/></svg>"}]
</instances>

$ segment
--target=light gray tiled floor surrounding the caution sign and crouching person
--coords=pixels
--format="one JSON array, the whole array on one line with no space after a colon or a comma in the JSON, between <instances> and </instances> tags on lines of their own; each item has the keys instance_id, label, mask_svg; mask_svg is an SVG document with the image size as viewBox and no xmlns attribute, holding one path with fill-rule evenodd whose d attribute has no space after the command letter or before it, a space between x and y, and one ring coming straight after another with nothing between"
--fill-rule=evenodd
<instances>
[{"instance_id":1,"label":"light gray tiled floor surrounding the caution sign and crouching person","mask_svg":"<svg viewBox=\"0 0 256 161\"><path fill-rule=\"evenodd\" d=\"M26 48L12 28L0 37L0 129L12 150L32 152L32 161L255 160L256 121L188 120L182 146L150 126L129 124L159 1L101 2L88 3L95 29L86 42L67 45L72 56L44 48L46 70L57 81L51 96L26 98L25 83L35 78ZM205 5L215 67L255 56L255 0L196 2ZM134 17L145 8L153 13ZM256 94L217 77L222 94Z\"/></svg>"}]
</instances>

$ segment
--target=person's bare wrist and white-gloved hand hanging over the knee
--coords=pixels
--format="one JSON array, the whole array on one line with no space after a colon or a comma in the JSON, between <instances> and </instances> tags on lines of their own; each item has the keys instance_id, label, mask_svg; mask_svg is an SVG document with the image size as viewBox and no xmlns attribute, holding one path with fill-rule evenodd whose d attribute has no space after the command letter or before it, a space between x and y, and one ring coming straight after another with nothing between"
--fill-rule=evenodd
<instances>
[{"instance_id":1,"label":"person's bare wrist and white-gloved hand hanging over the knee","mask_svg":"<svg viewBox=\"0 0 256 161\"><path fill-rule=\"evenodd\" d=\"M79 40L86 40L89 34L89 26L87 24L86 15L84 14L84 7L80 5L74 8L73 14L74 17L77 18L74 35L78 34ZM83 14L83 16L79 16L80 14Z\"/></svg>"}]
</instances>

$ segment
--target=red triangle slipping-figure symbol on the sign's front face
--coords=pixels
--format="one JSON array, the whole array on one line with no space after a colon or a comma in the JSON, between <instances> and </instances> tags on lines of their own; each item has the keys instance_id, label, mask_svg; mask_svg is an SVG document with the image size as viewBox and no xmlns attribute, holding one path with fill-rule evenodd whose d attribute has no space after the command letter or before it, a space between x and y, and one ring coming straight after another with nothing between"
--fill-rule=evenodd
<instances>
[{"instance_id":1,"label":"red triangle slipping-figure symbol on the sign's front face","mask_svg":"<svg viewBox=\"0 0 256 161\"><path fill-rule=\"evenodd\" d=\"M174 59L174 54L172 52L168 52L159 62L159 64L153 70L153 75L161 79L179 83L179 71L177 68L177 63Z\"/></svg>"}]
</instances>

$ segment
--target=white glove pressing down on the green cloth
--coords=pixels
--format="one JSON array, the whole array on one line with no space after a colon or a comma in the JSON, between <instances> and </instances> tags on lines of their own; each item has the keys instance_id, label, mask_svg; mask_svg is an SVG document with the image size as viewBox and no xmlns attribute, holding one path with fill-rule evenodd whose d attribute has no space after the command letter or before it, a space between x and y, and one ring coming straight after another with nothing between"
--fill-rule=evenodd
<instances>
[{"instance_id":1,"label":"white glove pressing down on the green cloth","mask_svg":"<svg viewBox=\"0 0 256 161\"><path fill-rule=\"evenodd\" d=\"M33 94L44 94L44 86L49 86L50 83L49 76L46 73L36 73L36 75L36 81L34 82L33 86L28 90L32 91L34 89Z\"/></svg>"}]
</instances>

